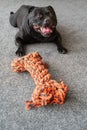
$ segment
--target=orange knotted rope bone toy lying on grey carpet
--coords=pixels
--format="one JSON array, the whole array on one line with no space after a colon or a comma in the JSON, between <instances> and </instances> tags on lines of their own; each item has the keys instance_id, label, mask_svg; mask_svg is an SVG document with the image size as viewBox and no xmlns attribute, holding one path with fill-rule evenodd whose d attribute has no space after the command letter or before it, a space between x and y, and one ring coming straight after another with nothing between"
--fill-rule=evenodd
<instances>
[{"instance_id":1,"label":"orange knotted rope bone toy lying on grey carpet","mask_svg":"<svg viewBox=\"0 0 87 130\"><path fill-rule=\"evenodd\" d=\"M63 81L58 83L51 79L51 75L45 68L45 63L38 52L28 54L14 60L11 64L14 72L28 71L34 79L36 87L31 100L26 101L27 110L48 104L63 104L68 91Z\"/></svg>"}]
</instances>

